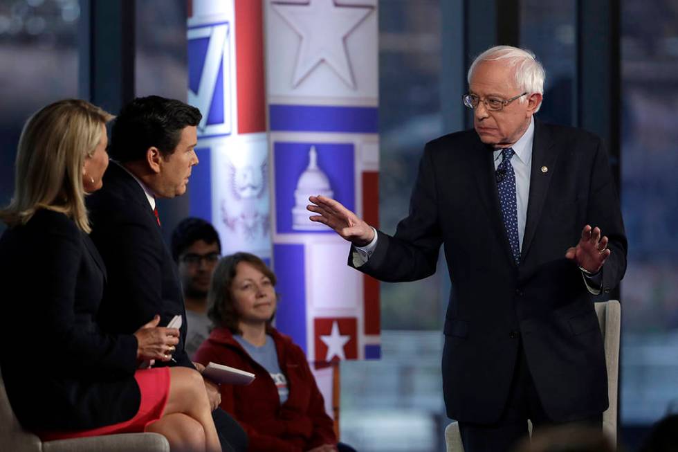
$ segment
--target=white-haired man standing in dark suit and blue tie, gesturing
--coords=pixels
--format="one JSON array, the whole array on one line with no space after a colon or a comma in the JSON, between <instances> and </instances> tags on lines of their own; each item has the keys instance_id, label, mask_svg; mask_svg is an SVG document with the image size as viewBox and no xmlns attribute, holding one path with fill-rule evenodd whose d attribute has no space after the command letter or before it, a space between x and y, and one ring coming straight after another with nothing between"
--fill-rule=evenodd
<instances>
[{"instance_id":1,"label":"white-haired man standing in dark suit and blue tie, gesturing","mask_svg":"<svg viewBox=\"0 0 678 452\"><path fill-rule=\"evenodd\" d=\"M497 452L527 433L526 419L601 425L607 376L592 295L623 277L627 242L601 140L533 118L544 85L533 54L493 47L468 84L475 130L427 143L394 236L332 199L311 197L309 210L351 242L349 265L379 280L431 275L445 245L447 413L466 452Z\"/></svg>"}]
</instances>

